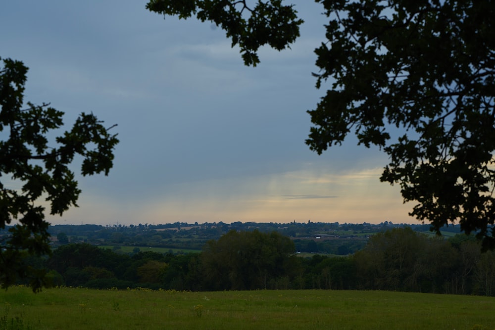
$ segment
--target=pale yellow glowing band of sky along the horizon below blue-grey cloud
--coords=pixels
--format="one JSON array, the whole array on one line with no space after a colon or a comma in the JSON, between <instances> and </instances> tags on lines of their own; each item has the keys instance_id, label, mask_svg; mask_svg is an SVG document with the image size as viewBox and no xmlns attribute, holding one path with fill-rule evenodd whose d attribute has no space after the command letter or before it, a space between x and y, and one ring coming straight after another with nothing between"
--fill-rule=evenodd
<instances>
[{"instance_id":1,"label":"pale yellow glowing band of sky along the horizon below blue-grey cloud","mask_svg":"<svg viewBox=\"0 0 495 330\"><path fill-rule=\"evenodd\" d=\"M408 215L412 205L402 203L399 189L380 182L381 172L380 168L340 173L309 168L270 176L200 181L169 187L163 195L136 203L83 194L80 208L50 221L417 223Z\"/></svg>"}]
</instances>

